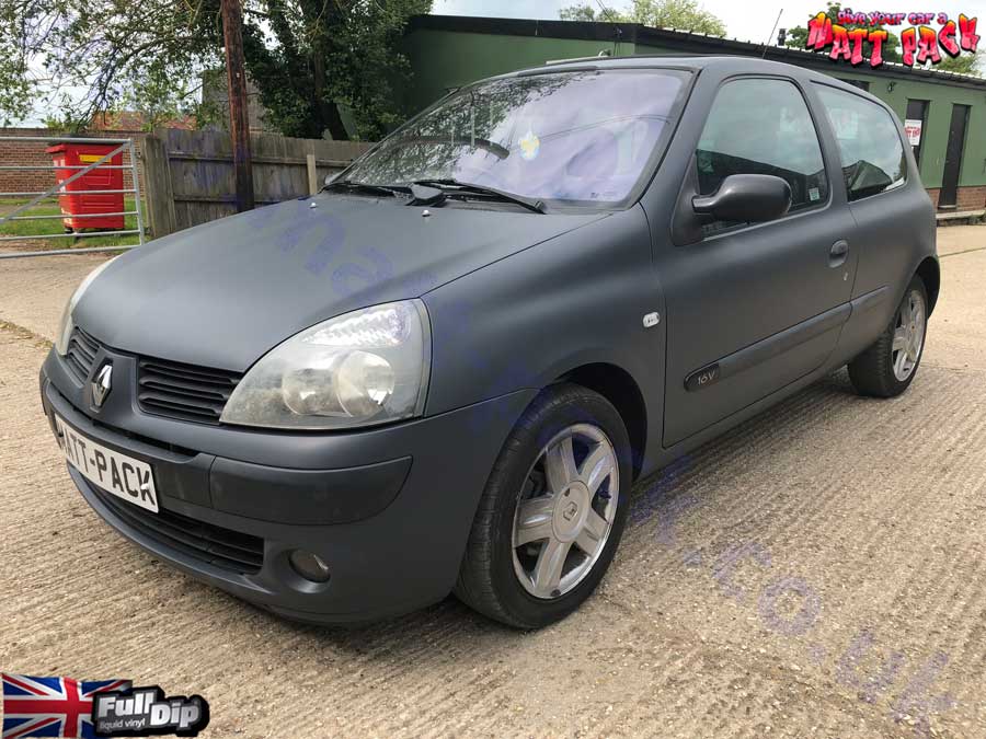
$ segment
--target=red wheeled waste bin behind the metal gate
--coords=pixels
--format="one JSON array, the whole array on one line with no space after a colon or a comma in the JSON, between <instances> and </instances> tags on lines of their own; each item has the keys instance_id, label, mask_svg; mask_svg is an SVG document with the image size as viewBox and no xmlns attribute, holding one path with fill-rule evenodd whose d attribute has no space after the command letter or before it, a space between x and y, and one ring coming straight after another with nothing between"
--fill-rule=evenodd
<instances>
[{"instance_id":1,"label":"red wheeled waste bin behind the metal gate","mask_svg":"<svg viewBox=\"0 0 986 739\"><path fill-rule=\"evenodd\" d=\"M56 169L55 177L60 185L66 180L78 173L78 166L85 166L99 161L118 143L72 143L61 141L47 148L51 154L51 161ZM123 152L114 154L103 164L119 166L123 164ZM78 195L73 190L117 190L115 193L82 193ZM123 216L101 216L100 213L118 213L124 210L123 170L111 170L101 164L90 170L81 177L73 180L65 186L67 195L58 197L61 212L65 213L62 223L66 231L81 231L92 229L96 231L112 231L123 229Z\"/></svg>"}]
</instances>

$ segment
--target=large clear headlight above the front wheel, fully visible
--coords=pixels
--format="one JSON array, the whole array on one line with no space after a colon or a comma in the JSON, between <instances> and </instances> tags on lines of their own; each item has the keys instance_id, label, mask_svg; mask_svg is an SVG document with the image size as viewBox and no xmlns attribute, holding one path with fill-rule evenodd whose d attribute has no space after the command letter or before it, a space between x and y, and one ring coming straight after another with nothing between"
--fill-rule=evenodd
<instances>
[{"instance_id":1,"label":"large clear headlight above the front wheel, fully visible","mask_svg":"<svg viewBox=\"0 0 986 739\"><path fill-rule=\"evenodd\" d=\"M226 424L339 429L421 415L431 331L424 303L346 313L272 349L233 390Z\"/></svg>"}]
</instances>

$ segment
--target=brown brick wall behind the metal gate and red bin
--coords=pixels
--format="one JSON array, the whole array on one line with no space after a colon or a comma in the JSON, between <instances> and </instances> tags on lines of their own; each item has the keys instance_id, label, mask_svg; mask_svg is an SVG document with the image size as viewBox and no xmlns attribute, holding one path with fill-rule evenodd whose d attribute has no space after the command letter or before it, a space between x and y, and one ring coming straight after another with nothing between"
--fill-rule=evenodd
<instances>
[{"instance_id":1,"label":"brown brick wall behind the metal gate and red bin","mask_svg":"<svg viewBox=\"0 0 986 739\"><path fill-rule=\"evenodd\" d=\"M58 131L48 128L0 128L0 136L44 136L57 140ZM144 172L139 170L140 147L144 142L142 131L93 131L83 134L84 138L107 139L134 139L137 145L138 176L140 186L144 186ZM45 165L51 163L51 154L45 152L47 143L44 141L8 141L0 140L0 165ZM130 158L124 152L123 163L129 164ZM133 176L129 170L124 170L124 187L133 187ZM55 184L54 170L0 170L0 193L38 193L48 189Z\"/></svg>"}]
</instances>

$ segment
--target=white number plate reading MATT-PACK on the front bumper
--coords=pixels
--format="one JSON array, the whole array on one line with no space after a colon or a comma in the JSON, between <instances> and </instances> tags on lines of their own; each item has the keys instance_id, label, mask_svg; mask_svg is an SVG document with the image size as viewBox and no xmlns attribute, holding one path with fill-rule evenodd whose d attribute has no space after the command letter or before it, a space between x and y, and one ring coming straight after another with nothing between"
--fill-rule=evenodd
<instances>
[{"instance_id":1,"label":"white number plate reading MATT-PACK on the front bumper","mask_svg":"<svg viewBox=\"0 0 986 739\"><path fill-rule=\"evenodd\" d=\"M79 474L117 498L158 512L158 492L150 464L106 449L79 434L57 415L55 425L65 458Z\"/></svg>"}]
</instances>

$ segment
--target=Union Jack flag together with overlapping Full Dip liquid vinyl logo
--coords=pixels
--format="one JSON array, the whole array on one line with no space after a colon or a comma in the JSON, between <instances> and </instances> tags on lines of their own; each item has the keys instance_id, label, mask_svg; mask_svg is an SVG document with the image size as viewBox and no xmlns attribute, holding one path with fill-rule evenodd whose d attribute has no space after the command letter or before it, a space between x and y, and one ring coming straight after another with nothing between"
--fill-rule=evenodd
<instances>
[{"instance_id":1,"label":"Union Jack flag together with overlapping Full Dip liquid vinyl logo","mask_svg":"<svg viewBox=\"0 0 986 739\"><path fill-rule=\"evenodd\" d=\"M2 739L194 737L209 723L209 705L200 695L169 697L158 685L5 673L2 680Z\"/></svg>"}]
</instances>

